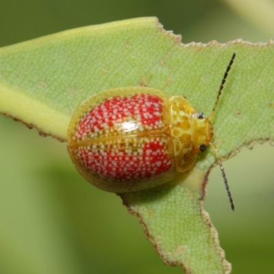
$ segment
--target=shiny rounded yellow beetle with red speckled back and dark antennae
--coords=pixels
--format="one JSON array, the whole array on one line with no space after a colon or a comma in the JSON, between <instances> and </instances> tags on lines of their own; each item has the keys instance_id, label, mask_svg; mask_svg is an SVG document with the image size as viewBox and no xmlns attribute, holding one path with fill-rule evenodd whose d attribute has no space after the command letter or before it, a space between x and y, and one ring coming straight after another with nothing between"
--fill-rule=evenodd
<instances>
[{"instance_id":1,"label":"shiny rounded yellow beetle with red speckled back and dark antennae","mask_svg":"<svg viewBox=\"0 0 274 274\"><path fill-rule=\"evenodd\" d=\"M197 155L212 145L211 119L236 53L227 66L212 114L197 112L182 96L143 86L112 88L79 105L69 124L67 144L76 169L88 182L109 192L160 186L186 173Z\"/></svg>"}]
</instances>

